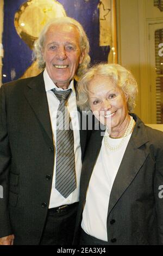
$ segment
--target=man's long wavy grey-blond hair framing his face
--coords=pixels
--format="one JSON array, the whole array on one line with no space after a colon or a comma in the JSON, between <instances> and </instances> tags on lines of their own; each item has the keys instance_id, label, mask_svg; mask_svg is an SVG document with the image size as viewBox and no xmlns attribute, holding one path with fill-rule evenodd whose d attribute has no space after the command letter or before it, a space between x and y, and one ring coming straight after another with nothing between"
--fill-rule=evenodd
<instances>
[{"instance_id":1,"label":"man's long wavy grey-blond hair framing his face","mask_svg":"<svg viewBox=\"0 0 163 256\"><path fill-rule=\"evenodd\" d=\"M47 23L47 25L42 29L39 38L35 41L34 50L33 50L33 60L37 61L40 69L45 68L45 61L42 56L42 49L45 42L46 33L50 26L62 25L62 24L73 25L78 29L80 50L81 52L83 51L85 52L83 62L79 64L79 67L77 70L77 76L80 77L86 72L87 67L89 66L89 63L90 63L90 56L89 56L90 45L82 25L78 21L72 19L71 17L59 17Z\"/></svg>"}]
</instances>

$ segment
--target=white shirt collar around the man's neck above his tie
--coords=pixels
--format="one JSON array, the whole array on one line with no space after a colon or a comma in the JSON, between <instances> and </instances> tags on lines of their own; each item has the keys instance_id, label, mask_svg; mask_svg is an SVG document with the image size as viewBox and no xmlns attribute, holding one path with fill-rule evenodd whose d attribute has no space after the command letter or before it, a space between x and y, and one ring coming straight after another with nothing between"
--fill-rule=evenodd
<instances>
[{"instance_id":1,"label":"white shirt collar around the man's neck above his tie","mask_svg":"<svg viewBox=\"0 0 163 256\"><path fill-rule=\"evenodd\" d=\"M52 79L49 77L48 73L47 73L47 69L45 68L44 72L43 72L43 79L45 82L45 91L51 91L53 88L56 88L57 91L62 91L62 88L58 88L54 82L52 81ZM72 79L70 82L70 85L68 86L68 89L72 89L72 92L76 93L75 89L74 89L74 80Z\"/></svg>"}]
</instances>

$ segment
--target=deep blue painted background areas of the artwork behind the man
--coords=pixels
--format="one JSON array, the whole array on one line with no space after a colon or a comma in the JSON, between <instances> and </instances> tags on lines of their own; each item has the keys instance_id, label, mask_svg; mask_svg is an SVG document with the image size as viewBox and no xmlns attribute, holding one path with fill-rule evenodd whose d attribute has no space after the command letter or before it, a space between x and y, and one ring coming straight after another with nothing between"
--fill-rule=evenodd
<instances>
[{"instance_id":1,"label":"deep blue painted background areas of the artwork behind the man","mask_svg":"<svg viewBox=\"0 0 163 256\"><path fill-rule=\"evenodd\" d=\"M14 16L24 0L4 1L4 30L3 30L3 83L11 81L11 70L16 72L15 79L20 78L32 63L32 51L18 36L14 26ZM109 46L99 46L99 0L58 0L67 16L78 20L84 27L91 46L91 63L108 60Z\"/></svg>"}]
</instances>

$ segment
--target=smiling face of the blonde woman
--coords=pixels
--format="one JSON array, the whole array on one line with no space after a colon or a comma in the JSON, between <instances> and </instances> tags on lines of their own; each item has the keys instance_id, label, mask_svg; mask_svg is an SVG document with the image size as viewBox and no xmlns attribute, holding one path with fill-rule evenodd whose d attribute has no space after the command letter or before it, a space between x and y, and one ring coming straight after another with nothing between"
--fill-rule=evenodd
<instances>
[{"instance_id":1,"label":"smiling face of the blonde woman","mask_svg":"<svg viewBox=\"0 0 163 256\"><path fill-rule=\"evenodd\" d=\"M96 118L108 129L122 130L128 120L127 96L107 76L97 75L89 84L89 103Z\"/></svg>"}]
</instances>

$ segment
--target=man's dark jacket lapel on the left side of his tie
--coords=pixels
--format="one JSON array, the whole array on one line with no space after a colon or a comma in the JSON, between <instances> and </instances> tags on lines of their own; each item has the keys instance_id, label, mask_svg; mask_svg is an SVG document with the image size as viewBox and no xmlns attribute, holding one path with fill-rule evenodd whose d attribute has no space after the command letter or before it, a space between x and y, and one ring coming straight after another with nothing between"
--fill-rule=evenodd
<instances>
[{"instance_id":1,"label":"man's dark jacket lapel on the left side of his tie","mask_svg":"<svg viewBox=\"0 0 163 256\"><path fill-rule=\"evenodd\" d=\"M51 119L49 116L43 73L36 76L36 78L27 84L24 94L28 100L28 103L35 112L37 119L45 129L45 132L48 134L49 139L53 141Z\"/></svg>"}]
</instances>

